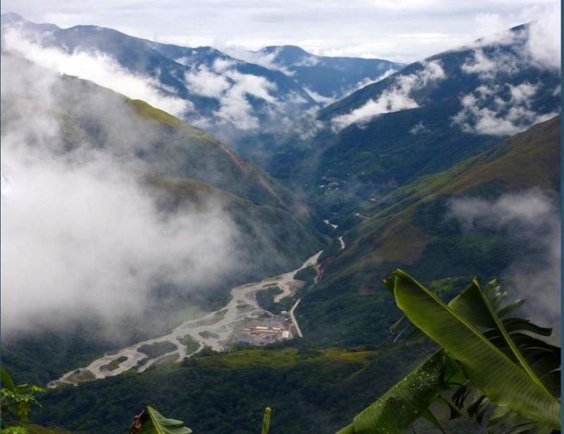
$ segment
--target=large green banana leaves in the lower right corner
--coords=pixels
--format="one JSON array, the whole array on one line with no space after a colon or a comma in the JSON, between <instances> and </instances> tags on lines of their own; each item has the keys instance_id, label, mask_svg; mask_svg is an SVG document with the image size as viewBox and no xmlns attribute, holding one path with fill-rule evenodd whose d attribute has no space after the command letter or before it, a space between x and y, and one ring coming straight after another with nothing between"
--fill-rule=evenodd
<instances>
[{"instance_id":1,"label":"large green banana leaves in the lower right corner","mask_svg":"<svg viewBox=\"0 0 564 434\"><path fill-rule=\"evenodd\" d=\"M424 362L341 431L400 433L419 417L439 428L429 406L439 400L459 417L482 423L489 414L491 433L550 433L560 429L560 349L523 334L549 336L550 329L509 317L523 301L502 304L507 293L495 281L482 289L477 279L444 303L401 270L385 281L398 307L419 330L443 346L435 376ZM439 358L439 356L442 356ZM449 390L452 403L443 397ZM442 428L441 428L442 430Z\"/></svg>"}]
</instances>

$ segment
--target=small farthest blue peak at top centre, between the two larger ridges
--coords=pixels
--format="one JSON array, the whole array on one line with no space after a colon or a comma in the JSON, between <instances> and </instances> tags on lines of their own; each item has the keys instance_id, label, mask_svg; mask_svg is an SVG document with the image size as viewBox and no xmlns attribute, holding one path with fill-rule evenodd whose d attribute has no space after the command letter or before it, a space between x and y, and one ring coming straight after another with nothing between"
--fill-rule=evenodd
<instances>
[{"instance_id":1,"label":"small farthest blue peak at top centre, between the two larger ridges","mask_svg":"<svg viewBox=\"0 0 564 434\"><path fill-rule=\"evenodd\" d=\"M323 105L405 66L383 59L317 56L294 45L264 47L241 57L280 69Z\"/></svg>"}]
</instances>

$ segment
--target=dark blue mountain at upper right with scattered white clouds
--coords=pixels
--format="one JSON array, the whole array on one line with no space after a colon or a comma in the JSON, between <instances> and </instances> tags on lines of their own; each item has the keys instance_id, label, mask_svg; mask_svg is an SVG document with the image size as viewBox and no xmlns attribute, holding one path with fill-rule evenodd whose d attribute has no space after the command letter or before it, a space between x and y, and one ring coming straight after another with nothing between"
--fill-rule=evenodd
<instances>
[{"instance_id":1,"label":"dark blue mountain at upper right with scattered white clouds","mask_svg":"<svg viewBox=\"0 0 564 434\"><path fill-rule=\"evenodd\" d=\"M560 69L535 24L406 66L318 112L268 170L329 217L477 155L560 110Z\"/></svg>"}]
</instances>

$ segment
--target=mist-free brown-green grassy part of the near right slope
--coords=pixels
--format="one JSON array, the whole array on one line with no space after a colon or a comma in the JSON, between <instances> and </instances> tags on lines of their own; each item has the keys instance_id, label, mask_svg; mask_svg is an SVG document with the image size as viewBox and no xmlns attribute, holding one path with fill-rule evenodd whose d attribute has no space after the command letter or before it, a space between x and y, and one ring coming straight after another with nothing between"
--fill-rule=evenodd
<instances>
[{"instance_id":1,"label":"mist-free brown-green grassy part of the near right slope","mask_svg":"<svg viewBox=\"0 0 564 434\"><path fill-rule=\"evenodd\" d=\"M503 140L491 150L425 176L364 212L371 219L345 232L347 248L326 256L324 277L297 313L306 336L325 344L364 344L384 338L382 327L397 316L379 283L395 267L427 282L446 277L463 284L473 275L498 275L519 254L503 234L463 234L446 224L448 198L537 187L558 191L560 116ZM388 203L389 203L388 202Z\"/></svg>"}]
</instances>

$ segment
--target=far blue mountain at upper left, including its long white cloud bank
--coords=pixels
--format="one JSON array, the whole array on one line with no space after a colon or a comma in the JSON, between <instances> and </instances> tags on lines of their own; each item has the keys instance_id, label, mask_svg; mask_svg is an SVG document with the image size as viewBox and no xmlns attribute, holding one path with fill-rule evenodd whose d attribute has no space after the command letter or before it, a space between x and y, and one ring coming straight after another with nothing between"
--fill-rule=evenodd
<instances>
[{"instance_id":1,"label":"far blue mountain at upper left, including its long white cloud bank","mask_svg":"<svg viewBox=\"0 0 564 434\"><path fill-rule=\"evenodd\" d=\"M316 105L280 71L233 59L212 47L159 44L95 25L63 29L13 13L2 16L2 34L4 49L147 100L233 142L241 134L276 129L281 118L288 123L297 111ZM49 58L53 63L42 63L45 49L54 50Z\"/></svg>"}]
</instances>

